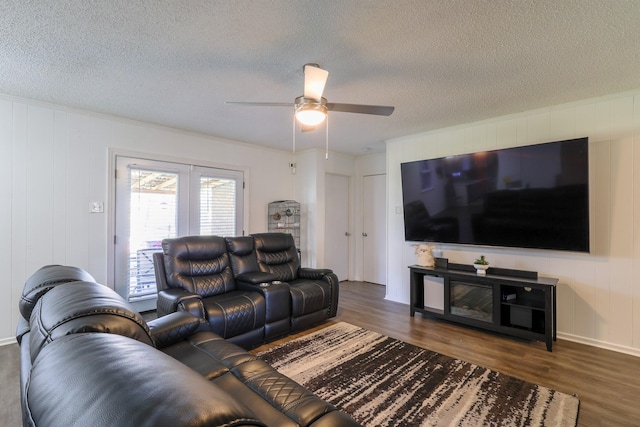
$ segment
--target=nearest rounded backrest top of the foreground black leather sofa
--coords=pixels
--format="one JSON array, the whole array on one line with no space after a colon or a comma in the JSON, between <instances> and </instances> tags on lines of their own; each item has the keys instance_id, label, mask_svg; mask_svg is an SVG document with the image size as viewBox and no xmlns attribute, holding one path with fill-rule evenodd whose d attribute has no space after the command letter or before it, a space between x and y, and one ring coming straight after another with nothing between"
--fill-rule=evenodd
<instances>
[{"instance_id":1,"label":"nearest rounded backrest top of the foreground black leather sofa","mask_svg":"<svg viewBox=\"0 0 640 427\"><path fill-rule=\"evenodd\" d=\"M265 426L232 391L116 334L53 341L38 356L24 396L25 425L33 426Z\"/></svg>"}]
</instances>

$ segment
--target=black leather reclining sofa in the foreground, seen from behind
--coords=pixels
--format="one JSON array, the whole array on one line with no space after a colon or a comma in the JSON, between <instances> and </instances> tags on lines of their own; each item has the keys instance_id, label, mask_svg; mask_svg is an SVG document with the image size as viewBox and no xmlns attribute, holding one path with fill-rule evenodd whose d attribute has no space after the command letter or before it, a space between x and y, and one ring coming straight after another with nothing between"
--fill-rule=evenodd
<instances>
[{"instance_id":1,"label":"black leather reclining sofa in the foreground, seen from behind","mask_svg":"<svg viewBox=\"0 0 640 427\"><path fill-rule=\"evenodd\" d=\"M357 426L178 311L146 323L83 270L26 282L17 340L25 426Z\"/></svg>"}]
</instances>

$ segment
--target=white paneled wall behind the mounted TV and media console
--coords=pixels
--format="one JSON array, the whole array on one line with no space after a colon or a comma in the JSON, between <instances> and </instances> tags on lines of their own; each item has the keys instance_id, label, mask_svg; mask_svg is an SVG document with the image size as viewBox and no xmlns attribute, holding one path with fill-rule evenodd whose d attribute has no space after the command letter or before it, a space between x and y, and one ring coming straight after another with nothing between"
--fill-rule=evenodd
<instances>
[{"instance_id":1,"label":"white paneled wall behind the mounted TV and media console","mask_svg":"<svg viewBox=\"0 0 640 427\"><path fill-rule=\"evenodd\" d=\"M399 164L588 136L590 254L442 245L452 262L480 253L493 265L557 277L558 335L640 355L640 90L389 141L387 298L409 302L413 250L403 238Z\"/></svg>"}]
</instances>

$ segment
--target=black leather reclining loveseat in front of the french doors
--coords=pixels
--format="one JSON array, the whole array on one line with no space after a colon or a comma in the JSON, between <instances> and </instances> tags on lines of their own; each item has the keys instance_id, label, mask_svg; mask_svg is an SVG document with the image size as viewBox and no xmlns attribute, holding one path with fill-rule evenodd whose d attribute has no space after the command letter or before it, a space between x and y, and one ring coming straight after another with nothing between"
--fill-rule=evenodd
<instances>
[{"instance_id":1,"label":"black leather reclining loveseat in front of the french doors","mask_svg":"<svg viewBox=\"0 0 640 427\"><path fill-rule=\"evenodd\" d=\"M291 234L164 239L153 260L158 316L188 311L246 349L336 316L338 277L302 268Z\"/></svg>"}]
</instances>

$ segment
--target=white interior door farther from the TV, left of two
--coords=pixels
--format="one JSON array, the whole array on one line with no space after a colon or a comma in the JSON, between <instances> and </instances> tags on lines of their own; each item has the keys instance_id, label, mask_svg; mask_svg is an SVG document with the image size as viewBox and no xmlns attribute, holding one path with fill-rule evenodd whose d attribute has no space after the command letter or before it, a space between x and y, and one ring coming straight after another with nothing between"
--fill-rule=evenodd
<instances>
[{"instance_id":1,"label":"white interior door farther from the TV, left of two","mask_svg":"<svg viewBox=\"0 0 640 427\"><path fill-rule=\"evenodd\" d=\"M349 177L325 175L324 259L340 280L349 279Z\"/></svg>"}]
</instances>

